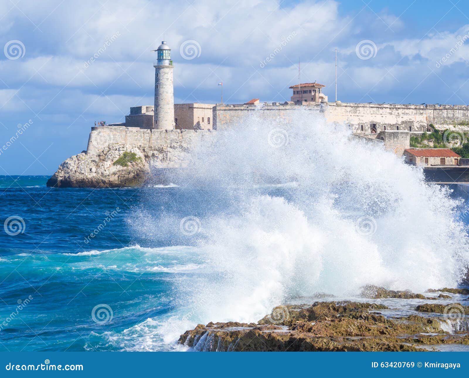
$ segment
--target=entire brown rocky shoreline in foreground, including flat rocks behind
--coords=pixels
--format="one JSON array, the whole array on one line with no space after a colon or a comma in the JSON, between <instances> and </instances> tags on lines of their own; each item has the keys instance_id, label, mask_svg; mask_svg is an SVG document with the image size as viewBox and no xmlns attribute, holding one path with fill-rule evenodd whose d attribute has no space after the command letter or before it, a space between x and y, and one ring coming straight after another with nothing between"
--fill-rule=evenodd
<instances>
[{"instance_id":1,"label":"entire brown rocky shoreline in foreground, including flat rocks behind","mask_svg":"<svg viewBox=\"0 0 469 378\"><path fill-rule=\"evenodd\" d=\"M428 290L426 296L368 286L362 297L452 299L443 291L469 294L443 288ZM417 314L400 317L383 315L386 310L384 304L352 301L280 305L257 323L199 324L178 342L194 351L424 351L441 344L469 345L464 318L469 306L426 303L414 308Z\"/></svg>"}]
</instances>

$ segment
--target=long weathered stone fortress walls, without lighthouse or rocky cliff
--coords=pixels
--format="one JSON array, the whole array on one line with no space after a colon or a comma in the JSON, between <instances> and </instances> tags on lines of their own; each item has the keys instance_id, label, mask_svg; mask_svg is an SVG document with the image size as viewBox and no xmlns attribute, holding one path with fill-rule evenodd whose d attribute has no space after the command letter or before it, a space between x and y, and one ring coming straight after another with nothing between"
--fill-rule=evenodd
<instances>
[{"instance_id":1,"label":"long weathered stone fortress walls, without lighthouse or rocky cliff","mask_svg":"<svg viewBox=\"0 0 469 378\"><path fill-rule=\"evenodd\" d=\"M384 142L386 150L401 156L409 147L412 133L420 134L430 124L437 129L469 130L469 106L449 105L399 105L356 103L303 103L311 116L325 117L327 122L346 123L354 134ZM188 144L206 136L209 130L158 130L151 129L152 106L135 107L126 117L125 126L93 127L88 141L87 154L97 156L109 144L135 144L142 147L158 147ZM293 121L298 105L292 102L253 105L217 104L212 109L213 129L236 127L241 117L250 111L260 111L272 121ZM129 125L128 125L129 123ZM129 127L128 127L129 126ZM374 133L371 129L375 128ZM412 131L410 131L412 130Z\"/></svg>"}]
</instances>

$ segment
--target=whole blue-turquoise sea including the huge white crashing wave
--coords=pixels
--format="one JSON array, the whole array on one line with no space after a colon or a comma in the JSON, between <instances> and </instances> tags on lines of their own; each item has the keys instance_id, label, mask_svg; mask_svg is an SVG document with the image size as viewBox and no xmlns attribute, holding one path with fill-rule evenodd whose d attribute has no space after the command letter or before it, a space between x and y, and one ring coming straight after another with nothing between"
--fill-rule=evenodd
<instances>
[{"instance_id":1,"label":"whole blue-turquoise sea including the huge white crashing wave","mask_svg":"<svg viewBox=\"0 0 469 378\"><path fill-rule=\"evenodd\" d=\"M279 304L464 285L464 185L308 113L249 117L143 188L0 176L0 350L185 351L197 324ZM374 301L388 316L425 302Z\"/></svg>"}]
</instances>

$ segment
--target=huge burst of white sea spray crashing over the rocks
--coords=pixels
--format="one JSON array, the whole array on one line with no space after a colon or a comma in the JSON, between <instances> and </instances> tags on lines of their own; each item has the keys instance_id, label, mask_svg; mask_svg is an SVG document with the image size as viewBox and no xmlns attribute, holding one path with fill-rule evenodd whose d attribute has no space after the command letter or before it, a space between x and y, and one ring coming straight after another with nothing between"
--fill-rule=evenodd
<instances>
[{"instance_id":1,"label":"huge burst of white sea spray crashing over the rocks","mask_svg":"<svg viewBox=\"0 0 469 378\"><path fill-rule=\"evenodd\" d=\"M469 246L461 203L313 114L298 107L293 121L272 122L253 110L194 147L168 181L185 190L197 233L181 234L183 217L168 208L136 222L140 233L199 247L206 269L177 284L181 306L204 298L194 324L257 321L280 303L356 295L366 284L418 292L460 281Z\"/></svg>"}]
</instances>

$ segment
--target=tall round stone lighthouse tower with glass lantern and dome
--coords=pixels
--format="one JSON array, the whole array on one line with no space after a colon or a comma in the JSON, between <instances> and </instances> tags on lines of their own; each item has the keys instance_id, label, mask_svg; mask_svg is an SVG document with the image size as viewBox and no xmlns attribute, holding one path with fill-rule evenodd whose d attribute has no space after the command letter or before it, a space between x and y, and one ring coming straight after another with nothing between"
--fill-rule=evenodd
<instances>
[{"instance_id":1,"label":"tall round stone lighthouse tower with glass lantern and dome","mask_svg":"<svg viewBox=\"0 0 469 378\"><path fill-rule=\"evenodd\" d=\"M154 51L154 50L153 50ZM157 52L155 68L155 107L153 128L159 130L174 129L174 89L173 61L171 49L162 41Z\"/></svg>"}]
</instances>

